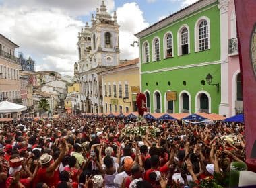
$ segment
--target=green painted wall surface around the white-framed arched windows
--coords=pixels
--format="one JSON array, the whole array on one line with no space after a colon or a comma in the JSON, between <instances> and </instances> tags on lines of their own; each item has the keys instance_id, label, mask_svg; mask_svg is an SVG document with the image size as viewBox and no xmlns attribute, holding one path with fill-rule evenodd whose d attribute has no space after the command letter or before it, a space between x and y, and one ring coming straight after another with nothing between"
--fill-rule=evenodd
<instances>
[{"instance_id":1,"label":"green painted wall surface around the white-framed arched windows","mask_svg":"<svg viewBox=\"0 0 256 188\"><path fill-rule=\"evenodd\" d=\"M197 20L206 16L210 19L210 49L195 52L195 37L194 29ZM190 53L183 56L178 56L177 50L177 32L179 28L187 24L189 26L190 36ZM163 39L166 32L172 32L173 38L173 52L174 57L164 59L164 45ZM152 62L152 40L158 36L160 38L160 61ZM220 104L220 92L217 92L216 86L210 86L205 83L201 84L202 80L210 73L213 77L212 83L220 83L220 64L210 64L206 66L191 66L189 68L181 68L171 71L161 71L162 68L173 68L175 66L187 66L192 64L207 63L207 62L218 62L220 61L220 12L218 6L215 4L204 7L198 13L187 15L187 18L175 21L170 26L160 29L157 32L148 34L140 38L140 44L144 41L149 42L150 46L150 62L141 64L141 88L142 91L150 91L150 107L151 112L154 112L154 91L160 91L162 97L162 113L165 112L165 93L168 90L177 91L177 101L174 103L174 113L179 113L179 93L186 90L191 95L191 112L195 113L195 95L198 91L207 91L210 93L212 107L212 113L218 113L218 106ZM142 62L142 49L141 49L141 62ZM157 73L143 73L145 71L156 71ZM170 81L171 85L168 85ZM186 81L187 85L183 85L183 81ZM205 80L206 81L206 80ZM156 85L158 82L158 86ZM148 85L146 85L148 83Z\"/></svg>"}]
</instances>

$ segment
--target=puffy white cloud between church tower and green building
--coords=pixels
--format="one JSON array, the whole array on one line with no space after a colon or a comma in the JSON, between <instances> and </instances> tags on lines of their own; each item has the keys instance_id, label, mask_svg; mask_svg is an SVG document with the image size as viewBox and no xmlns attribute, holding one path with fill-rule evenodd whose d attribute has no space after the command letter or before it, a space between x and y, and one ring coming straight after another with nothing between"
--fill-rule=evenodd
<instances>
[{"instance_id":1,"label":"puffy white cloud between church tower and green building","mask_svg":"<svg viewBox=\"0 0 256 188\"><path fill-rule=\"evenodd\" d=\"M132 12L132 13L131 13ZM139 57L137 46L130 44L137 40L135 33L148 27L149 24L143 18L143 11L139 9L137 3L125 3L117 8L117 23L120 25L119 46L121 59L133 59Z\"/></svg>"}]
</instances>

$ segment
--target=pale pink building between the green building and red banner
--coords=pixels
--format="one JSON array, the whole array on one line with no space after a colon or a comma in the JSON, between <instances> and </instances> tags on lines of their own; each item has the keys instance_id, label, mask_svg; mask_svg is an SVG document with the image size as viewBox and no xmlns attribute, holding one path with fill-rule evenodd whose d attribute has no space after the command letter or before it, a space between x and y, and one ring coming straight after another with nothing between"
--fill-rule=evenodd
<instances>
[{"instance_id":1,"label":"pale pink building between the green building and red banner","mask_svg":"<svg viewBox=\"0 0 256 188\"><path fill-rule=\"evenodd\" d=\"M220 115L230 117L243 112L243 94L236 35L234 0L219 0L221 42Z\"/></svg>"}]
</instances>

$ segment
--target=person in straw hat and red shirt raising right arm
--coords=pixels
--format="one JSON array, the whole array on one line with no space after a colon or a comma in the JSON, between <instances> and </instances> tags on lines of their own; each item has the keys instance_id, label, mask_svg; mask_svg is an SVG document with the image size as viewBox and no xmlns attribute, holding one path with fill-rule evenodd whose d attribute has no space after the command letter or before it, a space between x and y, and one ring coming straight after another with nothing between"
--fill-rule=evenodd
<instances>
[{"instance_id":1,"label":"person in straw hat and red shirt raising right arm","mask_svg":"<svg viewBox=\"0 0 256 188\"><path fill-rule=\"evenodd\" d=\"M62 150L57 160L53 161L53 157L47 153L40 156L39 161L40 164L42 164L42 167L40 167L40 169L38 170L38 174L34 181L34 187L36 187L36 184L40 182L46 183L49 187L57 186L59 182L59 168L57 167L59 166L59 164L61 164L61 161L65 156L67 145L66 140L63 139L61 144Z\"/></svg>"}]
</instances>

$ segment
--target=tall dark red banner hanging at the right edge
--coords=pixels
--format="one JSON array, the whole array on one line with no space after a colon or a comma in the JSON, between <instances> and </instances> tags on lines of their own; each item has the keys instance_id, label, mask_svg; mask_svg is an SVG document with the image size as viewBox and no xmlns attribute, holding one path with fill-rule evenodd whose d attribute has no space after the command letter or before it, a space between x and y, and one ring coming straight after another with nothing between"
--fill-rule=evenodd
<instances>
[{"instance_id":1,"label":"tall dark red banner hanging at the right edge","mask_svg":"<svg viewBox=\"0 0 256 188\"><path fill-rule=\"evenodd\" d=\"M239 60L243 81L246 162L256 167L256 1L235 0ZM256 168L255 168L256 169ZM255 170L254 169L254 170Z\"/></svg>"}]
</instances>

